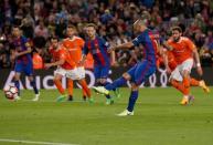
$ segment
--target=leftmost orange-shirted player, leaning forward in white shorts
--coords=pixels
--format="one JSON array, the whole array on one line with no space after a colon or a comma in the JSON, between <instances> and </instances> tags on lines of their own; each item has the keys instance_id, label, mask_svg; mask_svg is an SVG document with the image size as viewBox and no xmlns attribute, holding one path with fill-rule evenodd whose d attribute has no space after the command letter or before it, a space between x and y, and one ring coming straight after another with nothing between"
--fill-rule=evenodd
<instances>
[{"instance_id":1,"label":"leftmost orange-shirted player, leaning forward in white shorts","mask_svg":"<svg viewBox=\"0 0 213 145\"><path fill-rule=\"evenodd\" d=\"M72 60L67 50L58 43L58 38L53 37L51 39L51 44L52 46L50 48L50 52L53 56L54 62L45 63L44 66L46 69L51 66L57 66L56 71L54 72L54 84L61 93L61 96L57 97L57 102L61 102L67 96L61 82L62 77L66 76L71 80L78 80L78 83L86 91L89 103L93 103L94 100L93 97L90 97L90 91L87 85L84 85L84 82L79 80L81 75L78 74L76 63Z\"/></svg>"}]
</instances>

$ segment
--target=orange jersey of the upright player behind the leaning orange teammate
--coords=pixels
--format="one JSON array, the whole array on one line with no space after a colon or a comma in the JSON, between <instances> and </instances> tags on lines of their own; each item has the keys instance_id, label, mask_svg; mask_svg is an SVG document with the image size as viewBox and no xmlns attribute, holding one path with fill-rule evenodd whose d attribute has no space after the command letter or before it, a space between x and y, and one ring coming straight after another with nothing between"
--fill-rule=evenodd
<instances>
[{"instance_id":1,"label":"orange jersey of the upright player behind the leaning orange teammate","mask_svg":"<svg viewBox=\"0 0 213 145\"><path fill-rule=\"evenodd\" d=\"M68 50L72 60L77 64L82 59L84 40L78 37L73 37L73 39L64 39L62 44Z\"/></svg>"}]
</instances>

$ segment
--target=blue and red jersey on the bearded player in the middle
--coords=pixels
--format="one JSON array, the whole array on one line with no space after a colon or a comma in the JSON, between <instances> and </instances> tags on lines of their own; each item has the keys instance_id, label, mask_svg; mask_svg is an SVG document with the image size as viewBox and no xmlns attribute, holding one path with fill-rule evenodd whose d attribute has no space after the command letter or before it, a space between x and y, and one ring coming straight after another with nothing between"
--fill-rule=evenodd
<instances>
[{"instance_id":1,"label":"blue and red jersey on the bearded player in the middle","mask_svg":"<svg viewBox=\"0 0 213 145\"><path fill-rule=\"evenodd\" d=\"M109 48L108 42L103 38L96 37L95 40L88 40L84 44L83 54L90 52L93 54L94 63L98 66L110 65L110 55L107 53Z\"/></svg>"}]
</instances>

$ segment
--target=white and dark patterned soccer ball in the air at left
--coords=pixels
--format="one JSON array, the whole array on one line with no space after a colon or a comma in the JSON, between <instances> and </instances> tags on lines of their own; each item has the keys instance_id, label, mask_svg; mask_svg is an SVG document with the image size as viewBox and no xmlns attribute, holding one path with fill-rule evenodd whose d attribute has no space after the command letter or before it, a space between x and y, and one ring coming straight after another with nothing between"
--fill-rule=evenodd
<instances>
[{"instance_id":1,"label":"white and dark patterned soccer ball in the air at left","mask_svg":"<svg viewBox=\"0 0 213 145\"><path fill-rule=\"evenodd\" d=\"M6 94L6 97L8 100L14 100L17 96L18 96L18 89L13 85L7 85L4 89L3 89L3 92Z\"/></svg>"}]
</instances>

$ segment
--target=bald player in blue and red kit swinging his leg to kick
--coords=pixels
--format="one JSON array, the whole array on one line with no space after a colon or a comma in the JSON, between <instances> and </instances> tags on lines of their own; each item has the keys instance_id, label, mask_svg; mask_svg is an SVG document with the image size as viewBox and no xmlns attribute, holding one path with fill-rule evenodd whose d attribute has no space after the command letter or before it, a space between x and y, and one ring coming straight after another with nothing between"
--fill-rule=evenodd
<instances>
[{"instance_id":1,"label":"bald player in blue and red kit swinging his leg to kick","mask_svg":"<svg viewBox=\"0 0 213 145\"><path fill-rule=\"evenodd\" d=\"M109 52L121 49L131 49L134 46L142 45L145 51L145 60L138 62L129 71L125 72L121 77L114 81L111 84L105 87L98 86L94 87L95 91L109 94L109 91L123 86L127 81L131 82L131 93L129 96L129 102L127 110L118 114L118 116L134 115L134 106L138 99L139 85L145 82L150 75L152 75L156 70L157 51L159 49L159 34L149 30L147 27L147 19L139 19L134 23L134 31L138 33L138 37L131 42L127 42L109 49Z\"/></svg>"}]
</instances>

